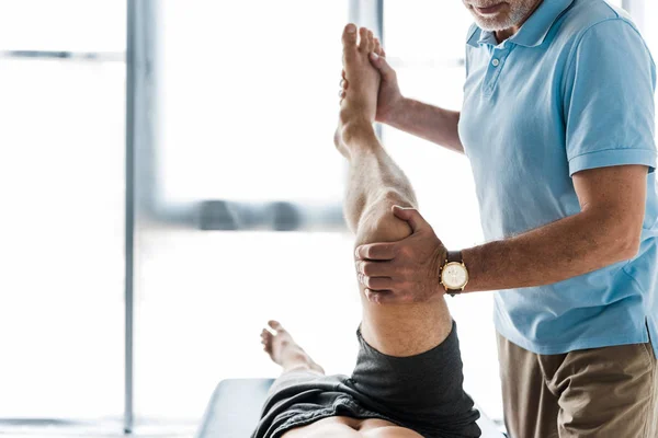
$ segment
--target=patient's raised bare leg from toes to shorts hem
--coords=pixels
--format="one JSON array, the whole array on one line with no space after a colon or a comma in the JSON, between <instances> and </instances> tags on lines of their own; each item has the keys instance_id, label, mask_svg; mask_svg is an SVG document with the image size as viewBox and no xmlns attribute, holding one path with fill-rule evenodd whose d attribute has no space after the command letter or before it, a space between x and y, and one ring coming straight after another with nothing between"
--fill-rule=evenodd
<instances>
[{"instance_id":1,"label":"patient's raised bare leg from toes to shorts hem","mask_svg":"<svg viewBox=\"0 0 658 438\"><path fill-rule=\"evenodd\" d=\"M376 105L378 76L368 70L373 67L367 59L374 41L362 31L358 45L356 34L345 32L343 46L350 88L341 104L336 146L350 163L344 215L356 234L356 245L398 241L411 230L393 215L392 207L416 208L417 201L409 180L383 149L368 117L363 116ZM364 289L360 285L361 332L381 353L417 355L441 344L452 330L452 318L441 295L429 302L376 304L367 300Z\"/></svg>"}]
</instances>

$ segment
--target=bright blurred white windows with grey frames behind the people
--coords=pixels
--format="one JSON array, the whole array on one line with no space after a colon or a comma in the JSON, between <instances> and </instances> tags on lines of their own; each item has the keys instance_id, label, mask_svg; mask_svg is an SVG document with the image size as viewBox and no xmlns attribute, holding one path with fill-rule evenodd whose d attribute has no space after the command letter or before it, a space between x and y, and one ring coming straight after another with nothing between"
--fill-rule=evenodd
<instances>
[{"instance_id":1,"label":"bright blurred white windows with grey frames behind the people","mask_svg":"<svg viewBox=\"0 0 658 438\"><path fill-rule=\"evenodd\" d=\"M656 53L658 4L611 3ZM461 107L460 0L0 1L0 435L191 437L219 380L277 376L269 319L351 372L348 21L404 94ZM467 160L379 129L446 246L483 242ZM466 389L501 419L491 297L450 306Z\"/></svg>"}]
</instances>

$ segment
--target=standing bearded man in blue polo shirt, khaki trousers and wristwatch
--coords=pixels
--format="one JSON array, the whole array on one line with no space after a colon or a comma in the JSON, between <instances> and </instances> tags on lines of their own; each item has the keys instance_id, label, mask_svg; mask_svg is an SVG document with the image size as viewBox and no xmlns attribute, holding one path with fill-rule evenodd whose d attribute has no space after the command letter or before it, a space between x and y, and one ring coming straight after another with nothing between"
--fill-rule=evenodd
<instances>
[{"instance_id":1,"label":"standing bearded man in blue polo shirt, khaki trousers and wristwatch","mask_svg":"<svg viewBox=\"0 0 658 438\"><path fill-rule=\"evenodd\" d=\"M356 250L363 284L386 285L368 299L497 290L512 437L655 438L649 50L602 0L463 1L476 23L462 112L404 97L384 54L371 61L382 73L378 122L470 160L488 243L447 252L418 211L396 210L413 234Z\"/></svg>"}]
</instances>

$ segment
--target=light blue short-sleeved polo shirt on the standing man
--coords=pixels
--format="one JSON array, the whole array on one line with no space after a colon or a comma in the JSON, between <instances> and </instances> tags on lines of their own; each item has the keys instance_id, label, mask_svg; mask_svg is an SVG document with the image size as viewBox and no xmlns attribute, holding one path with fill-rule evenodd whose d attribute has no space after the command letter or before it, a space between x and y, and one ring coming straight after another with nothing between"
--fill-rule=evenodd
<instances>
[{"instance_id":1,"label":"light blue short-sleeved polo shirt on the standing man","mask_svg":"<svg viewBox=\"0 0 658 438\"><path fill-rule=\"evenodd\" d=\"M656 71L633 22L602 0L545 0L501 44L474 25L466 70L460 137L488 241L578 214L577 172L648 168L637 256L496 292L499 333L537 354L646 343L650 334L658 355Z\"/></svg>"}]
</instances>

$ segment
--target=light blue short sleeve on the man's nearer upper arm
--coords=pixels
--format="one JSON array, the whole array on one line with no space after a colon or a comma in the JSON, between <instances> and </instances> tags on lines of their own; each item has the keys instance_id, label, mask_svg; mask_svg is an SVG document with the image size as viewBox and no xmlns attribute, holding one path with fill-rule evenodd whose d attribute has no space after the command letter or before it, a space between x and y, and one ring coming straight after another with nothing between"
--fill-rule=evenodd
<instances>
[{"instance_id":1,"label":"light blue short sleeve on the man's nearer upper arm","mask_svg":"<svg viewBox=\"0 0 658 438\"><path fill-rule=\"evenodd\" d=\"M566 72L569 174L623 164L656 168L656 67L642 36L623 19L587 30Z\"/></svg>"}]
</instances>

